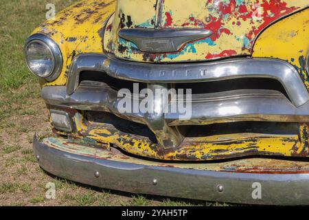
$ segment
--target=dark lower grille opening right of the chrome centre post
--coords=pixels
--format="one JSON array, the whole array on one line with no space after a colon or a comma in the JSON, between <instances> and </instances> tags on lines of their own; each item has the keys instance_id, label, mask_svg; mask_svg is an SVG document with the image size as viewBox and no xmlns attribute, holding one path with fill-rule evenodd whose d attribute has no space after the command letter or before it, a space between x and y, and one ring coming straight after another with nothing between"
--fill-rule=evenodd
<instances>
[{"instance_id":1,"label":"dark lower grille opening right of the chrome centre post","mask_svg":"<svg viewBox=\"0 0 309 220\"><path fill-rule=\"evenodd\" d=\"M228 122L222 124L183 126L185 137L207 137L236 133L258 133L269 135L299 135L298 123L284 122Z\"/></svg>"}]
</instances>

